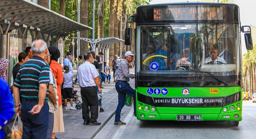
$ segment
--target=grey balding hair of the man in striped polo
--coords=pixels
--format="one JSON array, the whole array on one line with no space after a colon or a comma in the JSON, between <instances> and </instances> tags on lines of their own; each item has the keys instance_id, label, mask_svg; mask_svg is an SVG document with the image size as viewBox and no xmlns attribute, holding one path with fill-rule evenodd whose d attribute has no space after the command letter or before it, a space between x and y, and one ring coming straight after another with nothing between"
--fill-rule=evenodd
<instances>
[{"instance_id":1,"label":"grey balding hair of the man in striped polo","mask_svg":"<svg viewBox=\"0 0 256 139\"><path fill-rule=\"evenodd\" d=\"M44 40L41 40L41 39L35 40L31 44L31 49L33 54L41 54L41 53L44 53L45 50L47 49L47 44Z\"/></svg>"}]
</instances>

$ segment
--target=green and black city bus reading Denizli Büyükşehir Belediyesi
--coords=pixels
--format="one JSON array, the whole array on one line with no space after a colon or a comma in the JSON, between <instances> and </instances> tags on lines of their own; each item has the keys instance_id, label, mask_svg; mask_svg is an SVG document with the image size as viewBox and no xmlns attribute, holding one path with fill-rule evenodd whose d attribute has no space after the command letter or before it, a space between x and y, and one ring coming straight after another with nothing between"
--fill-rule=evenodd
<instances>
[{"instance_id":1,"label":"green and black city bus reading Denizli B\u00fcy\u00fck\u015fehir Belediyesi","mask_svg":"<svg viewBox=\"0 0 256 139\"><path fill-rule=\"evenodd\" d=\"M132 23L132 24L130 24ZM136 24L134 24L136 23ZM242 48L253 49L239 7L223 3L142 5L135 25L136 116L139 120L242 120Z\"/></svg>"}]
</instances>

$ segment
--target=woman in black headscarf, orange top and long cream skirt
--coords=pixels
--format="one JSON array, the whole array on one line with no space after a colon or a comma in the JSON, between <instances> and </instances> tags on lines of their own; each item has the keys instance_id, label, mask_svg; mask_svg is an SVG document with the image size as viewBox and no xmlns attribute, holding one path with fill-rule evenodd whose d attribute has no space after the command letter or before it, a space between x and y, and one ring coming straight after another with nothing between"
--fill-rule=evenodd
<instances>
[{"instance_id":1,"label":"woman in black headscarf, orange top and long cream skirt","mask_svg":"<svg viewBox=\"0 0 256 139\"><path fill-rule=\"evenodd\" d=\"M59 97L58 104L59 107L54 113L54 125L53 125L53 134L52 138L55 139L55 133L64 132L64 122L63 122L63 111L61 103L61 84L63 82L63 73L62 66L59 64L58 58L61 56L60 50L56 46L48 47L49 53L51 56L50 68L57 83L57 95Z\"/></svg>"}]
</instances>

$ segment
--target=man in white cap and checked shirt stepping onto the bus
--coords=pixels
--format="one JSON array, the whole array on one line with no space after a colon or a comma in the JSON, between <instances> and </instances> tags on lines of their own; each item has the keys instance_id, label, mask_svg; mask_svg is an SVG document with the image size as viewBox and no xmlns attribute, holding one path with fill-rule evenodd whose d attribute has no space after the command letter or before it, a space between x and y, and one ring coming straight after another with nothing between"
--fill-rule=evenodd
<instances>
[{"instance_id":1,"label":"man in white cap and checked shirt stepping onto the bus","mask_svg":"<svg viewBox=\"0 0 256 139\"><path fill-rule=\"evenodd\" d=\"M136 115L136 99L135 99L135 90L131 88L130 78L134 79L135 74L129 73L129 63L133 61L134 54L131 51L127 51L124 54L125 60L121 61L117 68L117 78L116 78L116 90L118 92L118 105L116 109L116 116L114 125L125 125L126 123L120 121L120 114L121 110L125 103L125 96L126 94L133 96L133 107L134 107L134 114Z\"/></svg>"}]
</instances>

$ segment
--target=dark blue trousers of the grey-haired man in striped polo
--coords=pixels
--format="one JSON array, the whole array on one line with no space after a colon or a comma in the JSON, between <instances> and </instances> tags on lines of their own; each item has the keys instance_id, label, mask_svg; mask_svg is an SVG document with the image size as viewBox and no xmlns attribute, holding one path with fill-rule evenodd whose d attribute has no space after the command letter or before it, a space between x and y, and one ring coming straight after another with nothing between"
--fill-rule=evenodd
<instances>
[{"instance_id":1,"label":"dark blue trousers of the grey-haired man in striped polo","mask_svg":"<svg viewBox=\"0 0 256 139\"><path fill-rule=\"evenodd\" d=\"M22 101L21 120L23 124L22 138L24 139L46 139L49 125L49 106L48 103L45 102L38 114L30 114L28 111L37 104L38 102Z\"/></svg>"}]
</instances>

